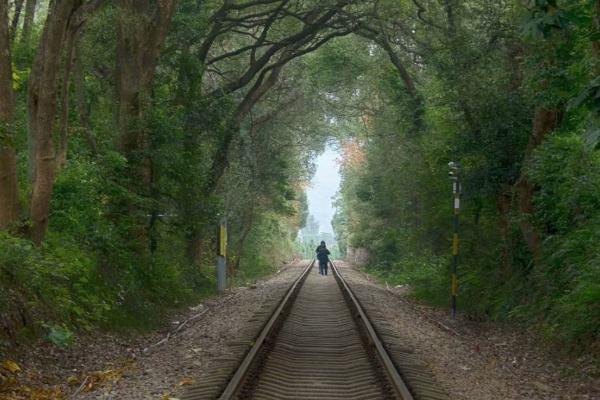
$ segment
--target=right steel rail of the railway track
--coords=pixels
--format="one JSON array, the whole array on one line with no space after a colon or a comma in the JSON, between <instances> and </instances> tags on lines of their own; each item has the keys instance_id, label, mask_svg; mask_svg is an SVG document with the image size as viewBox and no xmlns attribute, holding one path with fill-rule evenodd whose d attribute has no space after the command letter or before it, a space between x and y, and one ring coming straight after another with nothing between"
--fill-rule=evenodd
<instances>
[{"instance_id":1,"label":"right steel rail of the railway track","mask_svg":"<svg viewBox=\"0 0 600 400\"><path fill-rule=\"evenodd\" d=\"M352 302L352 305L353 305L355 311L358 313L358 317L360 318L360 321L362 322L362 324L365 328L365 331L367 333L368 340L369 340L369 342L371 342L373 344L377 358L379 359L381 365L383 366L383 368L387 374L387 377L388 377L390 383L392 384L396 394L402 400L414 400L412 393L410 392L410 390L404 383L404 380L398 373L398 370L396 369L394 362L392 361L390 355L388 354L387 350L385 349L385 346L383 345L382 341L379 339L379 335L375 331L375 328L373 328L373 324L371 324L369 317L367 317L367 314L365 313L362 306L360 305L360 302L358 301L358 299L352 292L352 289L350 289L350 286L348 286L348 284L346 283L346 280L340 274L340 272L338 271L338 268L335 266L333 261L331 262L331 266L332 266L333 273L336 277L336 280L338 281L338 284L340 285L342 290L348 295L348 298Z\"/></svg>"}]
</instances>

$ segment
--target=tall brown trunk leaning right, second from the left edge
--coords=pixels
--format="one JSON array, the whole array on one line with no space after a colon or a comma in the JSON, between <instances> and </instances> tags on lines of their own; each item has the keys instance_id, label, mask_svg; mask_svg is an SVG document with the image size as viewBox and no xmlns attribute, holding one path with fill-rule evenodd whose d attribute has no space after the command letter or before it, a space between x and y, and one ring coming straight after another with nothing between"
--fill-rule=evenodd
<instances>
[{"instance_id":1,"label":"tall brown trunk leaning right, second from the left edge","mask_svg":"<svg viewBox=\"0 0 600 400\"><path fill-rule=\"evenodd\" d=\"M56 173L53 131L61 53L71 18L81 3L81 0L51 3L29 79L28 126L32 167L29 236L36 244L43 241L48 227Z\"/></svg>"}]
</instances>

